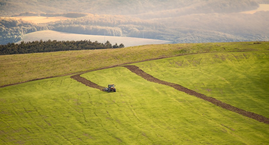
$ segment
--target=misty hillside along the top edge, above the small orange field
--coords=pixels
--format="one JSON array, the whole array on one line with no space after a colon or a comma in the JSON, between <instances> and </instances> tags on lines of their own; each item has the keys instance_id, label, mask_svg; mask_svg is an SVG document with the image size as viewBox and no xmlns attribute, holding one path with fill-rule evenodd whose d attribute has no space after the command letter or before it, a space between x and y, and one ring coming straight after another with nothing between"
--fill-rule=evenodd
<instances>
[{"instance_id":1,"label":"misty hillside along the top edge, above the small orange field","mask_svg":"<svg viewBox=\"0 0 269 145\"><path fill-rule=\"evenodd\" d=\"M140 18L156 18L197 14L231 13L254 10L266 0L0 0L1 16L22 12L136 15ZM168 11L167 11L168 10ZM161 15L154 13L162 12ZM169 16L169 17L171 17Z\"/></svg>"}]
</instances>

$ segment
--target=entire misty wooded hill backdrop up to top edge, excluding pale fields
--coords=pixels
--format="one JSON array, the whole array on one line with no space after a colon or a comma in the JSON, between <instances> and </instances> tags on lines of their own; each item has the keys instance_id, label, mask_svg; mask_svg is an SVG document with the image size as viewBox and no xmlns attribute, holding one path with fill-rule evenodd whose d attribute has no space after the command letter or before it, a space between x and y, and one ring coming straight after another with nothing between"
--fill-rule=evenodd
<instances>
[{"instance_id":1,"label":"entire misty wooded hill backdrop up to top edge, excluding pale fields","mask_svg":"<svg viewBox=\"0 0 269 145\"><path fill-rule=\"evenodd\" d=\"M38 30L160 39L174 43L269 41L269 11L240 13L255 10L259 4L269 4L269 1L0 0L1 17L72 18L45 24L2 19L0 44L17 42L24 34Z\"/></svg>"}]
</instances>

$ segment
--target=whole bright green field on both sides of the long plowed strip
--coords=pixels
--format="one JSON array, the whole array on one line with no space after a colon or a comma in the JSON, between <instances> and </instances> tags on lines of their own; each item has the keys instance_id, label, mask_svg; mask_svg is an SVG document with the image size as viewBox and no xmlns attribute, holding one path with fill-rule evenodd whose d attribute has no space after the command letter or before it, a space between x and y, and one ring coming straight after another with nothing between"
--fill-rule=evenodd
<instances>
[{"instance_id":1,"label":"whole bright green field on both sides of the long plowed strip","mask_svg":"<svg viewBox=\"0 0 269 145\"><path fill-rule=\"evenodd\" d=\"M210 44L193 45L197 48ZM255 48L249 46L252 45L246 48ZM161 80L267 115L268 88L264 88L263 84L268 84L269 78L266 77L268 71L263 68L268 66L268 50L261 49L261 45L256 46L261 51L192 54L134 65ZM192 52L199 50L193 47ZM0 143L269 142L268 124L217 107L169 86L149 82L127 68L108 68L81 76L101 86L114 83L117 92L107 93L90 88L70 76L0 88ZM242 77L246 76L242 81ZM263 79L259 79L261 77Z\"/></svg>"}]
</instances>

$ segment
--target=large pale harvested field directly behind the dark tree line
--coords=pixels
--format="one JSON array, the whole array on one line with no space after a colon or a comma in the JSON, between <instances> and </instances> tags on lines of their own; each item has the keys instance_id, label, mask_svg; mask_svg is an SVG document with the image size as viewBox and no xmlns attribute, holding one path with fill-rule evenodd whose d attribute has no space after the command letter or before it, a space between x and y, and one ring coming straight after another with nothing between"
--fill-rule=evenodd
<instances>
[{"instance_id":1,"label":"large pale harvested field directly behind the dark tree line","mask_svg":"<svg viewBox=\"0 0 269 145\"><path fill-rule=\"evenodd\" d=\"M57 41L78 41L78 40L91 40L92 42L98 41L100 43L104 43L107 40L114 45L115 43L124 44L125 47L130 46L139 46L139 45L146 45L146 44L169 44L171 41L165 40L156 40L156 39L144 39L144 38L134 38L134 37L117 37L117 36L101 36L101 35L83 35L83 34L74 34L74 33L65 33L65 32L58 32L52 30L43 30L28 33L23 36L21 41L28 42L28 41L36 41L42 39L43 41L50 40L57 40ZM20 43L17 42L17 43Z\"/></svg>"}]
</instances>

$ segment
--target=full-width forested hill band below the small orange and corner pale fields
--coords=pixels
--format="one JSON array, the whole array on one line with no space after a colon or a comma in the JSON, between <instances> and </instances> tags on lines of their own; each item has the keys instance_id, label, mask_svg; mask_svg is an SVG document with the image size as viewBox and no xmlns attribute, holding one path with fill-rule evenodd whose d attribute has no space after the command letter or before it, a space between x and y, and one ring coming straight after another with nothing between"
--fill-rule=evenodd
<instances>
[{"instance_id":1,"label":"full-width forested hill band below the small orange and corner pale fields","mask_svg":"<svg viewBox=\"0 0 269 145\"><path fill-rule=\"evenodd\" d=\"M38 30L160 39L174 43L268 41L268 15L268 11L192 14L149 21L128 16L89 14L44 24L5 18L0 20L0 44L17 42L24 34Z\"/></svg>"}]
</instances>

